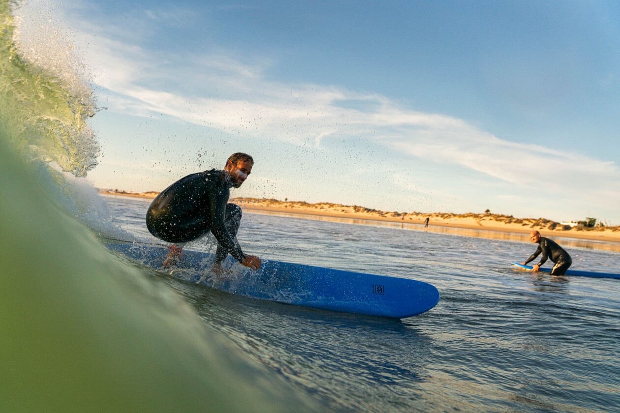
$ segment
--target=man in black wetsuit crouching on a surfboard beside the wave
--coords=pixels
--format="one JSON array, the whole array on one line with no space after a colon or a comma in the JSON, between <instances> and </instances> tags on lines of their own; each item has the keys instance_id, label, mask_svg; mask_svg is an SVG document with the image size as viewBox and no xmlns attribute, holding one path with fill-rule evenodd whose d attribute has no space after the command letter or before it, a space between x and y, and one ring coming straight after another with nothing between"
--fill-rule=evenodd
<instances>
[{"instance_id":1,"label":"man in black wetsuit crouching on a surfboard beside the wave","mask_svg":"<svg viewBox=\"0 0 620 413\"><path fill-rule=\"evenodd\" d=\"M146 227L155 237L172 243L164 266L181 258L185 243L213 233L218 240L213 271L222 271L221 263L231 254L239 263L254 270L260 258L246 255L237 242L241 208L229 204L230 188L239 188L252 172L254 159L237 152L226 160L224 170L193 173L164 189L146 212Z\"/></svg>"}]
</instances>

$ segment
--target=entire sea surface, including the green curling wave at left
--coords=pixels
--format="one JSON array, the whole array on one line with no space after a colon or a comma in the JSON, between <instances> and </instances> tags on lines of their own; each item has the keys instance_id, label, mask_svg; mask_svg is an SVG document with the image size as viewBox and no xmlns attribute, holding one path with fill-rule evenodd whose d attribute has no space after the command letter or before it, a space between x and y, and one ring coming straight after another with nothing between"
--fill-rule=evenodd
<instances>
[{"instance_id":1,"label":"entire sea surface, including the green curling wave at left","mask_svg":"<svg viewBox=\"0 0 620 413\"><path fill-rule=\"evenodd\" d=\"M108 253L105 238L155 241L148 201L74 177L99 154L92 92L22 52L6 1L0 26L0 412L619 411L619 280L513 270L532 243L244 214L246 253L435 285L438 305L405 320ZM570 244L573 268L619 271L590 247Z\"/></svg>"}]
</instances>

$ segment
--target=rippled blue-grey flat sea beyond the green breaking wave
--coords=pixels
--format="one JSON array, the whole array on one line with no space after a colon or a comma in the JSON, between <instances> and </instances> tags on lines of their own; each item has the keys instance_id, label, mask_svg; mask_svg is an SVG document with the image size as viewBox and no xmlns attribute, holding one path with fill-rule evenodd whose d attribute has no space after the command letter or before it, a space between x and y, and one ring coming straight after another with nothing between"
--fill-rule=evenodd
<instances>
[{"instance_id":1,"label":"rippled blue-grey flat sea beyond the green breaking wave","mask_svg":"<svg viewBox=\"0 0 620 413\"><path fill-rule=\"evenodd\" d=\"M106 197L142 242L149 200ZM161 275L204 323L329 411L617 411L620 283L515 271L535 245L399 227L244 214L263 258L411 277L441 300L401 321L234 297ZM561 241L560 241L561 242ZM213 249L212 240L188 246ZM572 248L574 268L618 253Z\"/></svg>"}]
</instances>

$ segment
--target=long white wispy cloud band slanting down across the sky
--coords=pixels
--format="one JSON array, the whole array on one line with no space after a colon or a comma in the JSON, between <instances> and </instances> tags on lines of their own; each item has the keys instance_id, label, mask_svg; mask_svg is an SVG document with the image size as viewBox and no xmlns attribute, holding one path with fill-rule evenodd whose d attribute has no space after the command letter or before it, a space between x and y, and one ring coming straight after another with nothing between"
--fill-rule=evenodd
<instances>
[{"instance_id":1,"label":"long white wispy cloud band slanting down across the sky","mask_svg":"<svg viewBox=\"0 0 620 413\"><path fill-rule=\"evenodd\" d=\"M229 133L270 136L300 145L319 144L335 134L348 139L368 137L412 157L454 163L522 186L536 185L541 179L553 185L569 176L578 181L597 176L619 179L613 162L505 141L463 120L408 110L383 95L335 86L280 84L266 80L263 67L221 55L192 59L193 66L184 71L199 73L200 82L196 82L189 75L179 77L174 67L162 67L137 46L102 38L91 44L96 48L93 66L105 67L95 82L125 100L123 110L131 109L138 116L164 113ZM186 87L193 92L139 86L147 72L161 77L161 83L166 79L188 82ZM368 105L351 108L343 105L346 102Z\"/></svg>"}]
</instances>

